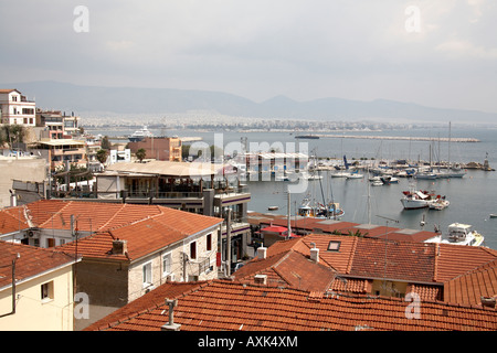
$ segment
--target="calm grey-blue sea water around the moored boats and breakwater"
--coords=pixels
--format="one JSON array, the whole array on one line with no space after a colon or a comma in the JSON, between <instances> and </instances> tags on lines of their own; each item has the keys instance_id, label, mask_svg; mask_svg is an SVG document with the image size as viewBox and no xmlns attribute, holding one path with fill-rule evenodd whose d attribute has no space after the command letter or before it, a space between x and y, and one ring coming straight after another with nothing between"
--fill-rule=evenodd
<instances>
[{"instance_id":1,"label":"calm grey-blue sea water around the moored boats and breakwater","mask_svg":"<svg viewBox=\"0 0 497 353\"><path fill-rule=\"evenodd\" d=\"M113 137L128 136L133 129L87 129L91 133ZM269 147L278 152L306 152L316 156L326 163L341 163L343 156L348 162L392 161L392 160L438 160L454 163L478 162L487 159L490 168L497 169L497 126L457 127L447 126L416 129L385 129L381 131L340 131L319 132L319 139L296 139L294 131L198 131L198 130L154 130L155 136L178 136L198 138L191 143L207 143L223 147L226 150L244 143L250 151ZM322 135L335 137L322 137ZM337 137L341 135L341 137ZM347 136L363 136L349 138ZM367 138L374 137L374 138ZM403 137L405 139L391 139ZM415 137L430 138L431 141L416 140ZM412 139L411 139L412 138ZM472 138L478 142L456 142L457 138ZM123 142L123 141L120 141ZM264 151L264 150L263 150ZM434 191L451 202L441 210L403 210L402 192L409 190L412 179L399 178L398 184L370 186L368 174L362 179L331 178L331 171L320 171L321 180L308 181L307 186L289 194L289 181L245 181L252 199L248 210L271 214L296 214L297 207L306 196L322 203L334 201L345 211L342 221L371 223L398 228L434 231L437 227L446 234L452 223L470 224L485 236L485 246L497 249L497 171L466 170L463 178L417 180L415 186ZM294 189L295 190L295 189ZM276 206L276 211L268 211Z\"/></svg>"}]
</instances>

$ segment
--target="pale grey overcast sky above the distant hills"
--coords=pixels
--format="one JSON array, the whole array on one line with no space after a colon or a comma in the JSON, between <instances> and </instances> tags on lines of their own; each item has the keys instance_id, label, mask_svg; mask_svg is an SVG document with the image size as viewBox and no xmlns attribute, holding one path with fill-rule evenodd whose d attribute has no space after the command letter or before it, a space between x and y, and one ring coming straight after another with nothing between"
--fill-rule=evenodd
<instances>
[{"instance_id":1,"label":"pale grey overcast sky above the distant hills","mask_svg":"<svg viewBox=\"0 0 497 353\"><path fill-rule=\"evenodd\" d=\"M496 0L0 0L0 84L497 113Z\"/></svg>"}]
</instances>

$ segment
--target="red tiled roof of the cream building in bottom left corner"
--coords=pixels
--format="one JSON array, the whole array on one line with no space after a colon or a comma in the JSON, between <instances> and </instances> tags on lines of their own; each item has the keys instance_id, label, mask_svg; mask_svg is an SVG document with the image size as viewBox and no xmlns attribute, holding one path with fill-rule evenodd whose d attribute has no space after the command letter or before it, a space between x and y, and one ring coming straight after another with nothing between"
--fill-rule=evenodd
<instances>
[{"instance_id":1,"label":"red tiled roof of the cream building in bottom left corner","mask_svg":"<svg viewBox=\"0 0 497 353\"><path fill-rule=\"evenodd\" d=\"M0 240L0 288L12 284L12 260L15 260L15 280L22 281L44 271L74 264L74 257L29 245Z\"/></svg>"}]
</instances>

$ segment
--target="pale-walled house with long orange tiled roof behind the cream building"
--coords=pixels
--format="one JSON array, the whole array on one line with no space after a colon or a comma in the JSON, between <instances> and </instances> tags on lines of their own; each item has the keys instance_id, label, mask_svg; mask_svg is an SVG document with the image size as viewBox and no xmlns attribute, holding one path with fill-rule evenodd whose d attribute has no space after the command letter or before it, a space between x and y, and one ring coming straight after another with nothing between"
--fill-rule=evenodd
<instances>
[{"instance_id":1,"label":"pale-walled house with long orange tiled roof behind the cream building","mask_svg":"<svg viewBox=\"0 0 497 353\"><path fill-rule=\"evenodd\" d=\"M41 248L56 247L54 257L65 253L81 258L74 272L75 284L77 292L88 296L89 309L87 319L75 320L77 330L166 281L216 278L222 222L157 205L43 200L0 211L0 254L4 255L2 243L10 242L32 248L32 268L44 265L41 254L47 252ZM0 265L7 264L6 257L0 256ZM29 257L21 255L24 260L19 263L17 276L27 269ZM10 309L8 299L12 296L3 288L10 268L1 267L4 266L0 266L3 313ZM54 288L68 293L73 288L68 286L55 282ZM27 308L31 304L31 300L22 302ZM40 324L38 312L36 319Z\"/></svg>"}]
</instances>

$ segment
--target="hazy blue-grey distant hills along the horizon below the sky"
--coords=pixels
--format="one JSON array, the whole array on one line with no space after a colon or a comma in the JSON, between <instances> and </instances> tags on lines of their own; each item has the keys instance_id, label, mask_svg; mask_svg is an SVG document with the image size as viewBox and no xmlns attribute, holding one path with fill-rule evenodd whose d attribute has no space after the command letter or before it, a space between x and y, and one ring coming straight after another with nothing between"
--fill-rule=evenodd
<instances>
[{"instance_id":1,"label":"hazy blue-grey distant hills along the horizon below the sky","mask_svg":"<svg viewBox=\"0 0 497 353\"><path fill-rule=\"evenodd\" d=\"M171 114L188 110L216 111L226 116L309 119L415 122L496 122L497 114L476 110L443 109L413 103L385 99L360 101L340 98L320 98L297 101L276 96L262 103L222 92L80 86L59 82L6 83L0 88L17 88L36 106L44 109L115 114Z\"/></svg>"}]
</instances>

